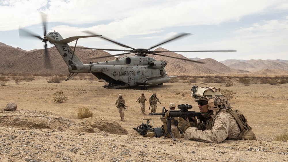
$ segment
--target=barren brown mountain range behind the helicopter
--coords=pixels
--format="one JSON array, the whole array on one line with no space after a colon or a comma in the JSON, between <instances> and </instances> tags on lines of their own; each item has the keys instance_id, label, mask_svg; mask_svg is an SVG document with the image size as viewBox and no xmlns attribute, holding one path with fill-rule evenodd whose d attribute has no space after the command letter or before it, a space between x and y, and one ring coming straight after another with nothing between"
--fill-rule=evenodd
<instances>
[{"instance_id":1,"label":"barren brown mountain range behind the helicopter","mask_svg":"<svg viewBox=\"0 0 288 162\"><path fill-rule=\"evenodd\" d=\"M156 51L168 51L157 48ZM0 42L0 73L29 73L29 74L68 74L68 67L63 61L55 47L48 48L52 69L44 68L44 49L25 51L14 48ZM108 52L102 50L76 49L75 54L84 64L113 60L115 57L102 59L90 59L96 56L109 56ZM162 55L185 58L173 53L163 52ZM133 55L133 54L130 54ZM205 62L205 64L169 58L165 56L151 55L148 57L156 60L165 60L168 75L175 74L253 74L253 75L288 75L288 60L225 60L218 62L211 58L190 58Z\"/></svg>"}]
</instances>

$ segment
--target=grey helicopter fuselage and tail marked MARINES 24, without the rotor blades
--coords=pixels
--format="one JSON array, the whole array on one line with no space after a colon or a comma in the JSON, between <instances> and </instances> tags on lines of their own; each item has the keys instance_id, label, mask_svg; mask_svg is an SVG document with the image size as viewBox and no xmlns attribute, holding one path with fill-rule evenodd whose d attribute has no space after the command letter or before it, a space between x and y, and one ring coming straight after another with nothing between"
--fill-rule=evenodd
<instances>
[{"instance_id":1,"label":"grey helicopter fuselage and tail marked MARINES 24, without the rotor blades","mask_svg":"<svg viewBox=\"0 0 288 162\"><path fill-rule=\"evenodd\" d=\"M73 39L63 39L57 32L47 34L49 41L54 43L58 52L68 66L71 74L92 73L98 79L103 79L108 85L104 87L120 88L135 85L162 85L170 81L167 76L164 60L157 61L145 56L125 56L120 59L83 64L67 44ZM57 38L57 39L56 39ZM75 40L75 39L74 39ZM69 77L66 79L70 79Z\"/></svg>"}]
</instances>

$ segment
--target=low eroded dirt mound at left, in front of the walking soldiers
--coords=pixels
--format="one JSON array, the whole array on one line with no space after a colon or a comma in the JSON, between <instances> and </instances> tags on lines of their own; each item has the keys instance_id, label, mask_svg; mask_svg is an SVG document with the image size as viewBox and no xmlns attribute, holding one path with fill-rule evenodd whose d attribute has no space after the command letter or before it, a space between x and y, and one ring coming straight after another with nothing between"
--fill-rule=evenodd
<instances>
[{"instance_id":1,"label":"low eroded dirt mound at left, in front of the walking soldiers","mask_svg":"<svg viewBox=\"0 0 288 162\"><path fill-rule=\"evenodd\" d=\"M58 129L61 131L72 130L88 133L104 131L109 134L127 134L127 130L115 121L103 121L103 119L97 119L96 117L89 119L65 119L52 112L39 110L1 111L0 126Z\"/></svg>"}]
</instances>

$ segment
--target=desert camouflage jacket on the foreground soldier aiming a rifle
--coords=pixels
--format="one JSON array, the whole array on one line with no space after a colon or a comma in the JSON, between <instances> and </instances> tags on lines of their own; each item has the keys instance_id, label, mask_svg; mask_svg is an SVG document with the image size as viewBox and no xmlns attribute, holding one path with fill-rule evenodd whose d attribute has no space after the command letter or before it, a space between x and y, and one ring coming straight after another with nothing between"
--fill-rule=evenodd
<instances>
[{"instance_id":1,"label":"desert camouflage jacket on the foreground soldier aiming a rifle","mask_svg":"<svg viewBox=\"0 0 288 162\"><path fill-rule=\"evenodd\" d=\"M212 120L212 121L211 121ZM199 122L197 127L199 128ZM209 125L212 125L211 129ZM227 112L220 111L215 118L207 120L206 130L199 130L197 127L186 129L184 138L186 140L198 140L202 142L220 143L223 140L236 138L240 134L240 129L233 116Z\"/></svg>"}]
</instances>

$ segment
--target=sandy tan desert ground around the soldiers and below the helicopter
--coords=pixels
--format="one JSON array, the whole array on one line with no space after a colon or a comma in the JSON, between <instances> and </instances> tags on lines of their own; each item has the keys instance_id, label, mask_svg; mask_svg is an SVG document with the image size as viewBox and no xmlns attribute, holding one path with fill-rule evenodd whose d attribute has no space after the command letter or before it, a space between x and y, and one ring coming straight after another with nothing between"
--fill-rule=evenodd
<instances>
[{"instance_id":1,"label":"sandy tan desert ground around the soldiers and below the helicopter","mask_svg":"<svg viewBox=\"0 0 288 162\"><path fill-rule=\"evenodd\" d=\"M0 161L287 161L287 141L276 141L287 133L288 84L237 83L164 83L145 90L154 92L162 104L190 104L193 85L214 86L233 91L229 100L240 109L257 136L257 141L229 141L219 144L193 140L143 137L133 127L152 119L160 127L160 116L141 115L140 87L106 89L104 82L73 79L48 83L51 77L36 76L31 82L14 80L0 86ZM53 96L62 91L68 98L55 103ZM178 94L179 93L179 94ZM126 100L125 120L120 121L115 107L118 94ZM178 94L178 95L177 95ZM5 111L14 102L16 111ZM77 108L89 108L93 117L77 119ZM148 112L149 102L146 102ZM151 124L151 123L150 123Z\"/></svg>"}]
</instances>

